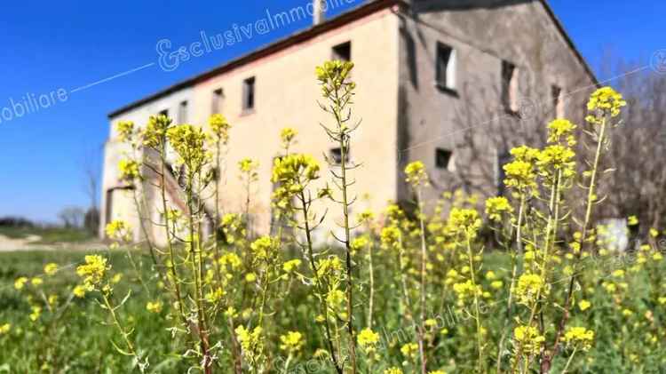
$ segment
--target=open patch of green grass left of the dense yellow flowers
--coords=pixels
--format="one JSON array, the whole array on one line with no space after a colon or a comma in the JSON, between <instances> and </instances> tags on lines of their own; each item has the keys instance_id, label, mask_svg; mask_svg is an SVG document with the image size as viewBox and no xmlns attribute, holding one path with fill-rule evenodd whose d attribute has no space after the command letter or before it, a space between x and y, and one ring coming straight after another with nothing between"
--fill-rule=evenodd
<instances>
[{"instance_id":1,"label":"open patch of green grass left of the dense yellow flowers","mask_svg":"<svg viewBox=\"0 0 666 374\"><path fill-rule=\"evenodd\" d=\"M17 251L0 253L0 325L10 323L9 336L0 335L0 373L129 373L131 360L115 352L114 344L120 345L120 338L113 330L108 314L95 301L96 295L87 294L75 298L72 290L79 284L75 267L83 262L83 251ZM128 292L142 293L136 273L133 272L123 251L103 251L110 259L116 274L123 276L116 284L116 301ZM150 271L147 257L135 254L135 259L144 261L148 279ZM59 265L53 276L44 275L48 263ZM31 279L39 276L44 283L35 287L28 281L23 290L15 290L14 281L26 276ZM155 282L151 282L155 284ZM158 290L152 289L152 292ZM58 298L56 313L45 307L36 321L31 321L33 305L44 306L44 302L31 301L36 298ZM145 293L140 297L129 298L118 310L124 323L133 326L133 336L137 343L151 357L150 372L185 372L178 368L171 352L170 335L163 318L146 311ZM63 307L67 305L67 307Z\"/></svg>"}]
</instances>

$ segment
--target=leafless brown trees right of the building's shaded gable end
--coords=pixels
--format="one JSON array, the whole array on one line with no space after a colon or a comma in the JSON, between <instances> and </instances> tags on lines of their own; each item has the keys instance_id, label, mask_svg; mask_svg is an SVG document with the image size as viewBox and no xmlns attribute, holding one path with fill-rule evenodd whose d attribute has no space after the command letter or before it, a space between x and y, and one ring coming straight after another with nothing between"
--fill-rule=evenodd
<instances>
[{"instance_id":1,"label":"leafless brown trees right of the building's shaded gable end","mask_svg":"<svg viewBox=\"0 0 666 374\"><path fill-rule=\"evenodd\" d=\"M645 232L666 215L666 76L617 63L616 86L627 99L622 125L614 129L606 167L614 170L603 190L607 217L637 216Z\"/></svg>"}]
</instances>

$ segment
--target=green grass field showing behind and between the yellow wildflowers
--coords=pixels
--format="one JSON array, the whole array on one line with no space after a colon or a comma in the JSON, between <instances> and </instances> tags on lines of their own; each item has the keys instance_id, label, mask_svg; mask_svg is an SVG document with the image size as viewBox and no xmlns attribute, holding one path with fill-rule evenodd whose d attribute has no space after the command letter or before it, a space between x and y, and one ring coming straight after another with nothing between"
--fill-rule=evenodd
<instances>
[{"instance_id":1,"label":"green grass field showing behind and between the yellow wildflowers","mask_svg":"<svg viewBox=\"0 0 666 374\"><path fill-rule=\"evenodd\" d=\"M184 373L188 368L178 349L183 342L172 339L169 329L173 322L169 320L169 306L161 314L151 314L146 303L151 299L164 298L163 290L156 287L155 272L147 253L133 252L133 258L143 264L142 277L148 284L148 290L141 287L136 273L127 260L124 251L102 251L108 256L114 274L123 278L115 284L114 298L122 299L131 291L131 298L118 309L118 314L127 326L131 326L131 338L138 350L151 362L147 372ZM83 260L83 251L20 251L0 253L0 326L11 324L8 333L0 333L0 373L129 373L132 371L131 358L118 354L114 343L122 346L117 331L110 325L109 314L96 302L99 293L87 294L84 298L75 298L72 290L81 281L75 274L75 267ZM56 275L44 275L44 266L57 263ZM140 265L139 264L139 265ZM382 268L388 264L379 264ZM633 370L636 373L661 373L666 367L666 356L659 349L661 343L654 340L655 333L664 321L664 306L650 301L652 292L661 293L663 289L658 280L650 279L647 273L638 270L632 262L590 262L589 271L597 281L585 281L584 292L591 302L586 312L577 312L574 324L590 326L595 330L595 345L585 354L584 359L575 364L569 372L575 373L620 373ZM488 252L484 271L493 270L502 279L506 279L508 258L500 252ZM632 270L633 269L633 270ZM626 275L619 277L617 270ZM652 274L663 274L654 268ZM28 284L23 290L15 290L17 278L40 276L44 284L34 287ZM591 278L590 278L591 280ZM378 280L379 300L388 298L394 289L393 280L382 277ZM614 282L626 290L608 292L605 287ZM656 287L656 289L655 289ZM300 289L299 289L300 290ZM147 293L151 295L147 295ZM30 316L34 310L31 305L46 305L45 301L36 302L36 298L58 297L56 305L64 312L51 313L42 310L36 321ZM30 298L33 298L32 301ZM497 293L488 303L488 312L483 315L484 323L491 331L503 329L504 291ZM654 300L654 298L652 298ZM307 312L307 305L313 300L303 293L295 292L284 300L280 315L276 317L281 326L275 330L295 329L304 331L308 341L304 356L313 354L318 344L319 331L309 323L312 315ZM442 308L438 312L445 315L448 332L441 337L442 344L436 352L438 362L446 365L449 374L468 372L461 369L466 354L473 352L469 346L470 320L463 314L456 314L451 322L455 300L442 298ZM68 303L68 304L67 304ZM68 305L67 308L61 306ZM391 304L381 305L382 313L377 316L378 328L382 334L392 334L396 330L409 329L391 324L400 321L400 311ZM59 310L60 310L59 309ZM630 314L624 312L629 310ZM296 324L295 324L296 323ZM402 329L402 330L400 330ZM385 335L383 335L384 337ZM495 337L496 338L496 337ZM266 344L276 344L270 342ZM386 349L392 355L392 362L400 364L400 345L389 345ZM509 347L511 349L511 347ZM223 348L224 349L224 348ZM220 351L222 352L222 351ZM458 363L456 363L458 362ZM554 362L555 369L561 370L561 361ZM464 367L464 366L463 366ZM134 369L136 370L136 369ZM137 371L138 372L138 371ZM226 373L230 370L216 370ZM313 372L313 371L307 371ZM331 371L314 371L328 373ZM407 373L407 371L406 371Z\"/></svg>"}]
</instances>

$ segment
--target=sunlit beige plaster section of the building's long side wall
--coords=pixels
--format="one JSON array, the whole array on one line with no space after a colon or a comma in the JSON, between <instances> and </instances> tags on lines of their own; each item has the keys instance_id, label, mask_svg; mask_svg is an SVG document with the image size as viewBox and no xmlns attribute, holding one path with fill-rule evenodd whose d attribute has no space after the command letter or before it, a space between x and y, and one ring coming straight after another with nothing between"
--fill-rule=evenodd
<instances>
[{"instance_id":1,"label":"sunlit beige plaster section of the building's long side wall","mask_svg":"<svg viewBox=\"0 0 666 374\"><path fill-rule=\"evenodd\" d=\"M270 224L270 181L274 157L281 155L279 133L284 127L297 129L297 145L291 152L308 153L322 163L319 186L329 179L323 153L335 147L319 123L332 124L317 104L321 89L314 68L331 59L331 48L348 41L352 43L355 63L353 80L358 84L353 105L353 118L362 119L354 134L352 160L362 163L353 171L356 184L353 195L359 195L353 213L368 206L380 209L396 198L396 117L398 99L398 35L397 17L390 11L377 12L354 21L313 40L296 44L242 68L199 84L194 88L195 123L205 123L211 113L212 94L224 91L221 112L232 123L231 140L226 156L226 178L222 192L225 211L242 211L245 191L238 178L237 164L245 157L260 163L259 179L251 191L250 211L261 232ZM256 107L250 114L242 113L242 82L256 77ZM332 185L331 185L332 186ZM369 200L361 195L369 194ZM341 207L327 204L326 227L336 227ZM321 235L327 230L321 230Z\"/></svg>"}]
</instances>

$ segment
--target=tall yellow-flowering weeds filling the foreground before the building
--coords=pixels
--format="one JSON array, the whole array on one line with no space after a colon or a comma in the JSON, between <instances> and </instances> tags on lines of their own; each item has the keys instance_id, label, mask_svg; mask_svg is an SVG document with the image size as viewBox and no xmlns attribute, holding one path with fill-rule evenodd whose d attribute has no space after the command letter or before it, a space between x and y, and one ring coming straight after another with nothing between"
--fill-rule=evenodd
<instances>
[{"instance_id":1,"label":"tall yellow-flowering weeds filling the foreground before the building","mask_svg":"<svg viewBox=\"0 0 666 374\"><path fill-rule=\"evenodd\" d=\"M29 329L58 330L81 307L75 300L88 298L115 331L115 351L142 372L163 370L169 360L190 372L235 374L647 372L647 365L666 364L663 234L654 228L636 251L619 253L594 220L599 186L610 174L601 170L608 133L621 125L620 94L594 92L580 128L565 119L549 123L543 149L513 148L503 166L508 196L480 202L456 191L425 202L429 178L416 161L405 169L413 209L391 203L381 215L354 218L352 69L340 61L317 68L320 106L332 119L323 131L341 150L340 160L327 160L328 182L312 155L294 152L297 132L281 131L269 235L254 232L250 219L257 161L238 165L244 209L220 206L231 128L223 116L212 116L206 129L165 116L142 129L118 123L131 149L121 176L137 187L149 256L132 249L131 227L115 221L107 235L115 240L111 251L127 249L126 272L114 274L106 254L86 256L65 298L44 282L60 271L56 264L43 276L16 278L30 327L0 324L0 344L34 337ZM579 142L591 152L576 154ZM182 206L170 195L174 184ZM159 219L147 211L148 191L159 196ZM578 217L569 202L581 191ZM314 239L332 214L326 201L340 210L340 248ZM215 230L204 235L208 222ZM164 244L151 226L160 227ZM139 287L121 293L121 274ZM163 352L139 338L136 300L161 322L163 329L150 332L168 336ZM64 370L55 354L60 337L41 340L16 367Z\"/></svg>"}]
</instances>

